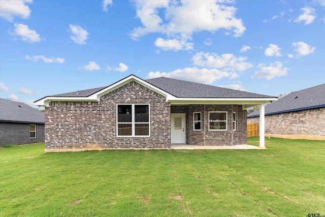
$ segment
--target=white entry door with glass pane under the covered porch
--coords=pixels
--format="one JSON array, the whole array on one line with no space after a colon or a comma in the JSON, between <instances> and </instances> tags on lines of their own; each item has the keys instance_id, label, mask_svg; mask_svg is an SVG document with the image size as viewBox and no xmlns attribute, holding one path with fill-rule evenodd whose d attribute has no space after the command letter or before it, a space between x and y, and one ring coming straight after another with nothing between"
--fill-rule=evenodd
<instances>
[{"instance_id":1,"label":"white entry door with glass pane under the covered porch","mask_svg":"<svg viewBox=\"0 0 325 217\"><path fill-rule=\"evenodd\" d=\"M185 114L172 114L171 143L185 144Z\"/></svg>"}]
</instances>

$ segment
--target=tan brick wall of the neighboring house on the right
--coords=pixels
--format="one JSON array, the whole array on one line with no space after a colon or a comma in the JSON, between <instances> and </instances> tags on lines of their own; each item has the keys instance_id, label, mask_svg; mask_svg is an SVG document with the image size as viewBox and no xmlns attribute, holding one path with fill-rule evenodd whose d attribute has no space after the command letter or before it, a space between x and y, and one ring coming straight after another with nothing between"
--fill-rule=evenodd
<instances>
[{"instance_id":1,"label":"tan brick wall of the neighboring house on the right","mask_svg":"<svg viewBox=\"0 0 325 217\"><path fill-rule=\"evenodd\" d=\"M265 133L325 136L324 120L325 107L265 115ZM259 122L259 117L249 117L247 122Z\"/></svg>"}]
</instances>

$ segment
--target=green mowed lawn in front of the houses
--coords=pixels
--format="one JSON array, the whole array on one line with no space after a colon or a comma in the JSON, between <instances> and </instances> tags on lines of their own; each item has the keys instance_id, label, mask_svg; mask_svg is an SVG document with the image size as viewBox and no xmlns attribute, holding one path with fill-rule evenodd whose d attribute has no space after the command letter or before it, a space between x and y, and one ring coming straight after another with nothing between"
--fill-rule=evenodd
<instances>
[{"instance_id":1,"label":"green mowed lawn in front of the houses","mask_svg":"<svg viewBox=\"0 0 325 217\"><path fill-rule=\"evenodd\" d=\"M0 216L325 215L325 142L266 144L268 150L0 148Z\"/></svg>"}]
</instances>

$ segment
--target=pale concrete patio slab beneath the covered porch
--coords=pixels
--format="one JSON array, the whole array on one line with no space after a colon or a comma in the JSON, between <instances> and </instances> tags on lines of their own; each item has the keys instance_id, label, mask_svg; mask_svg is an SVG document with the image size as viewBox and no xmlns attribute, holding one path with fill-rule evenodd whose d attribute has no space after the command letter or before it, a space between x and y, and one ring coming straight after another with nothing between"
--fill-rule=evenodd
<instances>
[{"instance_id":1,"label":"pale concrete patio slab beneath the covered porch","mask_svg":"<svg viewBox=\"0 0 325 217\"><path fill-rule=\"evenodd\" d=\"M254 145L215 145L215 146L202 146L202 145L185 145L185 144L172 144L171 149L266 149L259 148Z\"/></svg>"}]
</instances>

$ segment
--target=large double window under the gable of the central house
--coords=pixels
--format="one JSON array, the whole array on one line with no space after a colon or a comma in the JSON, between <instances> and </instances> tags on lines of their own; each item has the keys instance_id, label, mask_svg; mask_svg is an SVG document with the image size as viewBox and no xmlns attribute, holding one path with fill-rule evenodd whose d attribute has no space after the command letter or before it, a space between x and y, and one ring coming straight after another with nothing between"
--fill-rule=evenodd
<instances>
[{"instance_id":1,"label":"large double window under the gable of the central house","mask_svg":"<svg viewBox=\"0 0 325 217\"><path fill-rule=\"evenodd\" d=\"M117 105L117 136L149 136L149 105Z\"/></svg>"}]
</instances>

